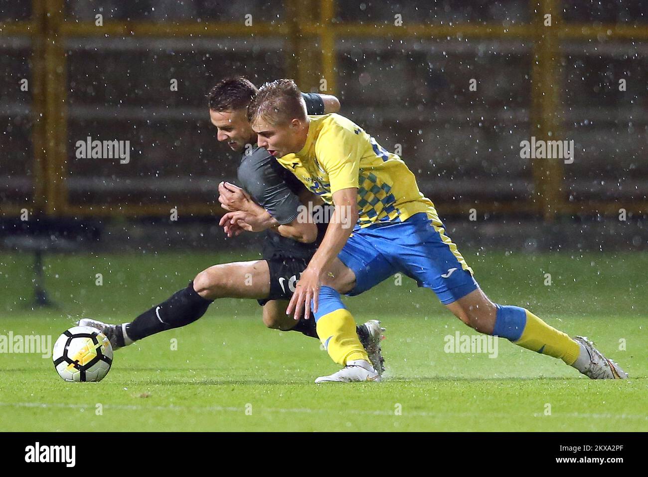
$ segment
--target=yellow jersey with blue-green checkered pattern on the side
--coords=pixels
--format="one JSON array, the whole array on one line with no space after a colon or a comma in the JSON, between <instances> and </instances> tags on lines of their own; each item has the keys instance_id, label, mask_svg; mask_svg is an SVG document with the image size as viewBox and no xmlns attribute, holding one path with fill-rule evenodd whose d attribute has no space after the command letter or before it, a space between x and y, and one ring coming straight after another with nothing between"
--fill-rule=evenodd
<instances>
[{"instance_id":1,"label":"yellow jersey with blue-green checkered pattern on the side","mask_svg":"<svg viewBox=\"0 0 648 477\"><path fill-rule=\"evenodd\" d=\"M277 159L308 190L332 204L336 191L358 188L358 224L362 227L405 221L419 212L437 217L434 204L419 191L416 178L399 156L380 147L346 117L308 117L304 147Z\"/></svg>"}]
</instances>

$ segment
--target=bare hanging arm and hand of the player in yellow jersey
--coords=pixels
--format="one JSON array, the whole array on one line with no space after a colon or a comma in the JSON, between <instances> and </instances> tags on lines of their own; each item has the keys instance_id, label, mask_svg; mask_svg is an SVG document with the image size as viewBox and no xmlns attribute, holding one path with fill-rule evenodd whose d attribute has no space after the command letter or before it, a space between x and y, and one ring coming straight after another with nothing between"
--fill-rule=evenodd
<instances>
[{"instance_id":1,"label":"bare hanging arm and hand of the player in yellow jersey","mask_svg":"<svg viewBox=\"0 0 648 477\"><path fill-rule=\"evenodd\" d=\"M304 312L305 319L310 319L311 300L313 300L313 311L317 312L322 278L328 273L331 263L347 243L358 221L357 197L358 188L341 189L333 194L334 213L318 251L310 259L308 267L297 282L297 290L286 309L287 315L294 312L295 319L299 319Z\"/></svg>"}]
</instances>

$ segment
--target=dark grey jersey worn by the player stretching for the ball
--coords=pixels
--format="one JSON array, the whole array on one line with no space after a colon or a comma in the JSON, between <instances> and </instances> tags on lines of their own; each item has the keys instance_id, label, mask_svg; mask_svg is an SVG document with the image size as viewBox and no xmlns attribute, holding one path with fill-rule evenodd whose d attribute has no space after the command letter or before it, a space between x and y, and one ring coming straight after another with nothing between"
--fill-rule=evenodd
<instances>
[{"instance_id":1,"label":"dark grey jersey worn by the player stretching for the ball","mask_svg":"<svg viewBox=\"0 0 648 477\"><path fill-rule=\"evenodd\" d=\"M316 93L302 93L308 114L324 114L324 103ZM254 145L242 155L238 166L238 182L260 206L280 224L288 224L299 215L299 193L303 184L268 154L263 147ZM307 258L315 253L326 224L318 225L318 240L301 243L268 231L263 244L264 258Z\"/></svg>"}]
</instances>

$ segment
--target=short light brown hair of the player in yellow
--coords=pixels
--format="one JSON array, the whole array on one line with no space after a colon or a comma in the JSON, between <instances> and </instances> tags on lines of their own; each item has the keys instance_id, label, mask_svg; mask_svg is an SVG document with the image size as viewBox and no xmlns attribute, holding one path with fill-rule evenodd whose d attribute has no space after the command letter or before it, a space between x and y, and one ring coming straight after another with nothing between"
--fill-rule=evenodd
<instances>
[{"instance_id":1,"label":"short light brown hair of the player in yellow","mask_svg":"<svg viewBox=\"0 0 648 477\"><path fill-rule=\"evenodd\" d=\"M304 121L306 110L301 91L292 79L279 79L264 84L248 106L250 123L263 119L277 125L295 118Z\"/></svg>"}]
</instances>

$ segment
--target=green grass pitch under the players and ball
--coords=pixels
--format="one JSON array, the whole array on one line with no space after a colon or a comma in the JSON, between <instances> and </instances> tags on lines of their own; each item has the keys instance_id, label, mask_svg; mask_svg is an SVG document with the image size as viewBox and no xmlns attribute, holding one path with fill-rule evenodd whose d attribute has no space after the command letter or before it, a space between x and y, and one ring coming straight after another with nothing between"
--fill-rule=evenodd
<instances>
[{"instance_id":1,"label":"green grass pitch under the players and ball","mask_svg":"<svg viewBox=\"0 0 648 477\"><path fill-rule=\"evenodd\" d=\"M1 255L0 334L47 334L53 344L82 316L129 321L208 265L248 258L48 256L58 308L31 310L31 257ZM380 384L313 384L338 368L316 339L266 329L251 300L218 300L200 321L117 351L100 383L65 383L38 354L0 354L0 431L648 430L648 254L502 251L467 260L491 299L594 339L631 379L592 381L503 339L496 358L446 353L445 336L472 330L403 278L345 300L356 321L387 327Z\"/></svg>"}]
</instances>

